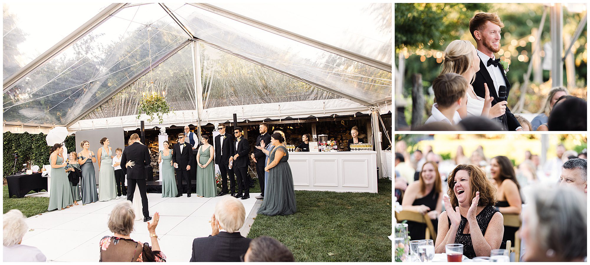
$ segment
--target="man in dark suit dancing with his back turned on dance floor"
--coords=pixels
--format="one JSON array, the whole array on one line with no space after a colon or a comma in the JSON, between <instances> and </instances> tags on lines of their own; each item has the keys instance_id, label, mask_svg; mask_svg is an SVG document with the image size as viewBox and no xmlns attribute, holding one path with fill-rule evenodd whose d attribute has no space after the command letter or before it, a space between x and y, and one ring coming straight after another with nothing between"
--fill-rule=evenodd
<instances>
[{"instance_id":1,"label":"man in dark suit dancing with his back turned on dance floor","mask_svg":"<svg viewBox=\"0 0 590 265\"><path fill-rule=\"evenodd\" d=\"M149 216L148 194L146 193L146 166L152 163L149 157L149 150L146 145L139 143L139 135L132 134L129 138L133 144L129 145L121 155L121 169L123 173L127 174L127 200L133 201L133 193L135 192L135 185L139 187L139 194L142 196L143 206L143 221L152 220ZM129 167L125 167L127 161L135 163Z\"/></svg>"}]
</instances>

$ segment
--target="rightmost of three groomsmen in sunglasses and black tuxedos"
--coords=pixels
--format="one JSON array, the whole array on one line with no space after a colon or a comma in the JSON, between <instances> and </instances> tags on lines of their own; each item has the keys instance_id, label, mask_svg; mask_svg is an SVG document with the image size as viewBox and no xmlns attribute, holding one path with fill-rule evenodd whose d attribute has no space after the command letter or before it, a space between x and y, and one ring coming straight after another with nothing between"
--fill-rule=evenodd
<instances>
[{"instance_id":1,"label":"rightmost of three groomsmen in sunglasses and black tuxedos","mask_svg":"<svg viewBox=\"0 0 590 265\"><path fill-rule=\"evenodd\" d=\"M242 128L240 127L235 127L234 136L235 154L230 158L230 161L234 161L233 168L235 175L238 178L238 193L235 194L234 197L241 197L242 200L245 200L250 198L250 175L248 175L247 170L248 163L250 163L250 157L248 157L248 153L250 153L250 143L248 143L248 139L242 137ZM243 196L242 191L244 191Z\"/></svg>"}]
</instances>

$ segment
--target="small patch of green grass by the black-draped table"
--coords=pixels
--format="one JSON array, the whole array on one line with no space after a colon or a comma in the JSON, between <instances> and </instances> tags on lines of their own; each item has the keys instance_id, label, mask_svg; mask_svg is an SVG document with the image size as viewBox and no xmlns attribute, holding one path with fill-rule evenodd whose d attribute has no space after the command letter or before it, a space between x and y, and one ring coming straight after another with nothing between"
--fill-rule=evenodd
<instances>
[{"instance_id":1,"label":"small patch of green grass by the black-draped table","mask_svg":"<svg viewBox=\"0 0 590 265\"><path fill-rule=\"evenodd\" d=\"M26 217L35 216L40 213L45 213L47 211L47 207L49 206L49 198L45 197L24 197L24 198L17 198L12 197L8 198L8 185L4 185L2 191L2 206L3 211L2 213L5 214L9 210L18 209L22 211ZM35 191L31 191L29 194L35 193Z\"/></svg>"}]
</instances>

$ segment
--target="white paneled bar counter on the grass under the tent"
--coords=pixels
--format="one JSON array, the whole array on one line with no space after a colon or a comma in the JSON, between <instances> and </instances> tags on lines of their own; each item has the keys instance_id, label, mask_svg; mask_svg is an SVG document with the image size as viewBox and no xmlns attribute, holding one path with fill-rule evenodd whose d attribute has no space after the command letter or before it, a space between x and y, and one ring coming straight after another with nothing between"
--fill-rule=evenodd
<instances>
[{"instance_id":1,"label":"white paneled bar counter on the grass under the tent","mask_svg":"<svg viewBox=\"0 0 590 265\"><path fill-rule=\"evenodd\" d=\"M289 152L295 190L377 193L377 152Z\"/></svg>"}]
</instances>

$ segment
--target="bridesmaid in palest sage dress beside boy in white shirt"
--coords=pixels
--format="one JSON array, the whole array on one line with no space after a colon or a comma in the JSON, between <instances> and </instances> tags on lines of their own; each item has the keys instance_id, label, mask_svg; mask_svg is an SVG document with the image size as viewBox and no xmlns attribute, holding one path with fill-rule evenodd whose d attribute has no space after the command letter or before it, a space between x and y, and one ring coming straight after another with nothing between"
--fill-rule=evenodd
<instances>
[{"instance_id":1,"label":"bridesmaid in palest sage dress beside boy in white shirt","mask_svg":"<svg viewBox=\"0 0 590 265\"><path fill-rule=\"evenodd\" d=\"M113 151L109 147L109 138L103 137L99 148L99 201L110 201L117 197L117 185L114 180Z\"/></svg>"}]
</instances>

